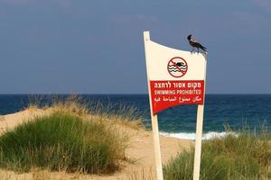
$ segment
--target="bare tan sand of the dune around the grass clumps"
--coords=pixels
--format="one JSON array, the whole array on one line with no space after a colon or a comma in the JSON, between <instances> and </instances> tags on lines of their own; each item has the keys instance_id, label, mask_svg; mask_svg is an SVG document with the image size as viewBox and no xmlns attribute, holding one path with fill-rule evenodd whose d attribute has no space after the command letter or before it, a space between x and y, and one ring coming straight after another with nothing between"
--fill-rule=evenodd
<instances>
[{"instance_id":1,"label":"bare tan sand of the dune around the grass clumps","mask_svg":"<svg viewBox=\"0 0 271 180\"><path fill-rule=\"evenodd\" d=\"M23 112L16 112L0 117L0 134L5 130L13 129L23 121L29 121L37 115L50 113L49 110L27 109ZM79 175L66 174L62 172L36 171L26 174L15 174L14 172L2 169L0 174L6 179L130 179L132 176L147 174L154 178L154 148L152 131L135 130L132 127L123 128L130 137L126 150L126 161L121 162L121 169L112 175ZM191 140L175 139L160 136L160 145L163 163L166 164L172 157L184 148L190 148ZM5 179L5 177L4 177ZM155 179L155 178L154 178Z\"/></svg>"}]
</instances>

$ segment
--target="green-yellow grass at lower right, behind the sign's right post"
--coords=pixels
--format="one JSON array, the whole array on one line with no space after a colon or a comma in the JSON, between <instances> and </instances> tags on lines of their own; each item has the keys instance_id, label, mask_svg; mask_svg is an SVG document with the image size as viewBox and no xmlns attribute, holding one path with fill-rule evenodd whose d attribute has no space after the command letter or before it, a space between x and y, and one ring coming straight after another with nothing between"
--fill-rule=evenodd
<instances>
[{"instance_id":1,"label":"green-yellow grass at lower right, behind the sign's right post","mask_svg":"<svg viewBox=\"0 0 271 180\"><path fill-rule=\"evenodd\" d=\"M164 166L165 180L192 180L194 148ZM271 142L242 131L202 143L201 180L271 179Z\"/></svg>"}]
</instances>

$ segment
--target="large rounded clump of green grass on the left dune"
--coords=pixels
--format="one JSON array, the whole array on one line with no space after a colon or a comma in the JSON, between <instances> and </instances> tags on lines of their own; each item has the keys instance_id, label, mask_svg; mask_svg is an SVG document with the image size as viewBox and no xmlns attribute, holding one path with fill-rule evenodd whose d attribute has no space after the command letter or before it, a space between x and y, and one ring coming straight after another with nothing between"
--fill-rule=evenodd
<instances>
[{"instance_id":1,"label":"large rounded clump of green grass on the left dune","mask_svg":"<svg viewBox=\"0 0 271 180\"><path fill-rule=\"evenodd\" d=\"M103 121L65 112L36 117L0 137L0 167L111 173L125 158L126 138Z\"/></svg>"}]
</instances>

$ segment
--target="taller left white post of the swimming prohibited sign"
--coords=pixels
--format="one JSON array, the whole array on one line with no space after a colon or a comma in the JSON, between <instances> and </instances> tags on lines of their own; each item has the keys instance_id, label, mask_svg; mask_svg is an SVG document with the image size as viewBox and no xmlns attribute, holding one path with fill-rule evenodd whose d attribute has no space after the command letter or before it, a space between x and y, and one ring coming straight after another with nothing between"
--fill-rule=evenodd
<instances>
[{"instance_id":1,"label":"taller left white post of the swimming prohibited sign","mask_svg":"<svg viewBox=\"0 0 271 180\"><path fill-rule=\"evenodd\" d=\"M146 69L148 70L148 41L150 40L150 32L144 31L144 42L145 42L145 59L146 59ZM147 72L147 81L148 81L148 93L149 93L149 102L152 118L152 129L153 129L153 138L154 138L154 159L155 159L155 168L157 180L163 180L163 166L161 160L161 151L160 151L160 142L159 142L159 130L158 130L158 120L157 115L153 114L153 105L151 97L151 88L150 81Z\"/></svg>"}]
</instances>

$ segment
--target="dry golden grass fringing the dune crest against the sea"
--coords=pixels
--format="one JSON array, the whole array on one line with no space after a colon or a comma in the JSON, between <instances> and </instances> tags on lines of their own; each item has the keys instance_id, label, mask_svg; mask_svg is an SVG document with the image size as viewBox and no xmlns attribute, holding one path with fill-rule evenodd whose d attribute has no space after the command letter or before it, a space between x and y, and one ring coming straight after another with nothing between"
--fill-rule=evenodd
<instances>
[{"instance_id":1,"label":"dry golden grass fringing the dune crest against the sea","mask_svg":"<svg viewBox=\"0 0 271 180\"><path fill-rule=\"evenodd\" d=\"M107 121L110 125L122 125L134 130L145 129L142 123L142 112L139 112L134 106L110 103L105 106L99 102L88 104L76 94L67 98L51 95L50 99L46 99L46 101L40 95L33 95L29 98L29 102L25 110L34 112L37 109L42 109L47 112L69 113L84 119L91 118L97 121Z\"/></svg>"}]
</instances>

